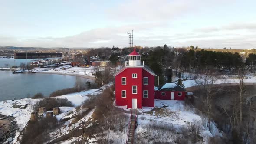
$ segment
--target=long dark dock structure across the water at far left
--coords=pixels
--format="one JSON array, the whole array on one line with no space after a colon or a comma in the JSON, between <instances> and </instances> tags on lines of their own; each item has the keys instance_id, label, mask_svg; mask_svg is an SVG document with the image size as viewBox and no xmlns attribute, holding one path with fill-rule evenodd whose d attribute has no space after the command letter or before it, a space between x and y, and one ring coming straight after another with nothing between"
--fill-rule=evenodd
<instances>
[{"instance_id":1,"label":"long dark dock structure across the water at far left","mask_svg":"<svg viewBox=\"0 0 256 144\"><path fill-rule=\"evenodd\" d=\"M15 52L14 59L48 59L60 58L62 53L33 53L33 52Z\"/></svg>"}]
</instances>

